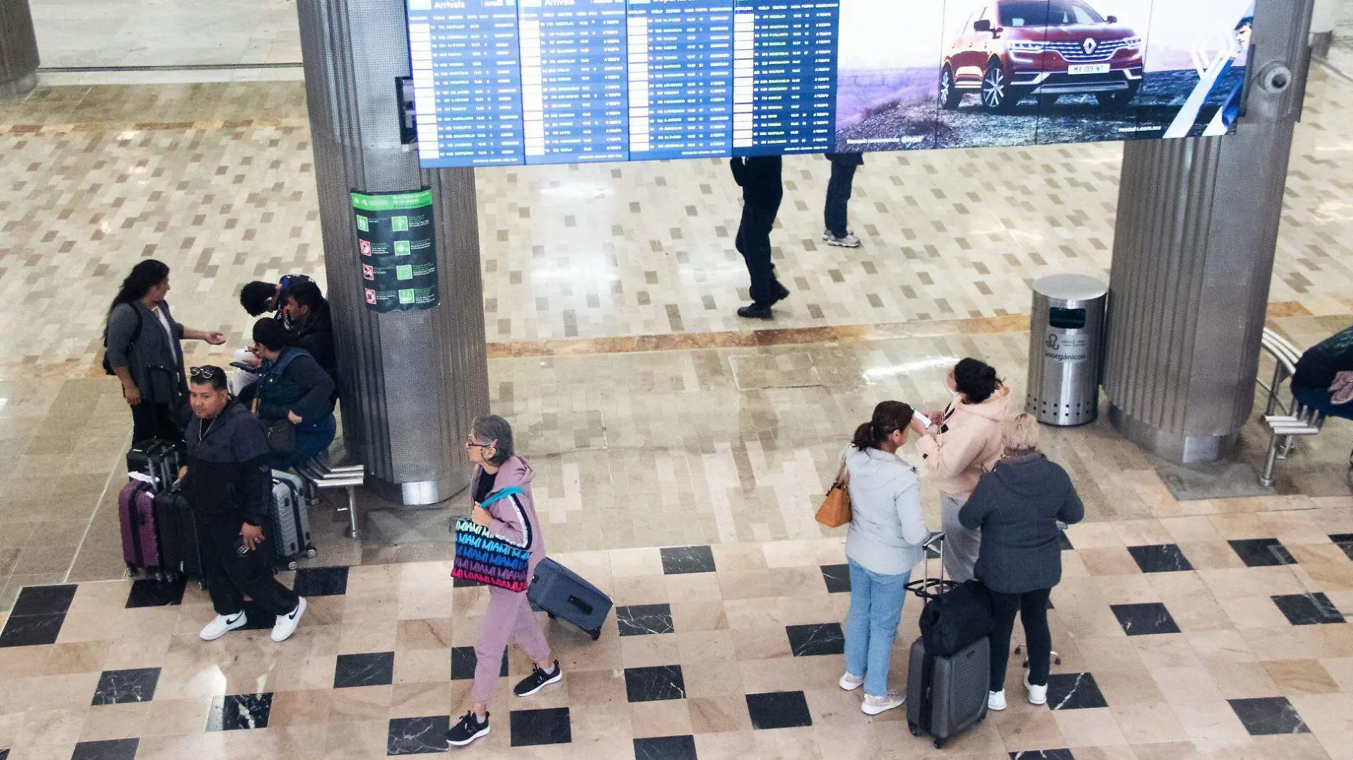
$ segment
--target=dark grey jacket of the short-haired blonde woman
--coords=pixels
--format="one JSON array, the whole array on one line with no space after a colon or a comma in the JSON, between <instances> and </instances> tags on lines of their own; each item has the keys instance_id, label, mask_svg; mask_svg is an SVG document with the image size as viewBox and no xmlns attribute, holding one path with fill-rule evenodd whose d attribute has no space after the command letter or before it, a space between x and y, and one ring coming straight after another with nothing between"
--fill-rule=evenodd
<instances>
[{"instance_id":1,"label":"dark grey jacket of the short-haired blonde woman","mask_svg":"<svg viewBox=\"0 0 1353 760\"><path fill-rule=\"evenodd\" d=\"M1057 521L1070 525L1084 517L1066 471L1040 453L996 462L958 511L963 527L982 529L974 575L1003 594L1057 586L1062 580Z\"/></svg>"}]
</instances>

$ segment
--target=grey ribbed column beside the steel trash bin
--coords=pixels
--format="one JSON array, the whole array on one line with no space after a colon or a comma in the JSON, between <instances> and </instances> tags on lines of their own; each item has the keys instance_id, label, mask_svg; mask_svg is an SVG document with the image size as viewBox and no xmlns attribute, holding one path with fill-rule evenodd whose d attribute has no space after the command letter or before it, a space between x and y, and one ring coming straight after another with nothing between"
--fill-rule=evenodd
<instances>
[{"instance_id":1,"label":"grey ribbed column beside the steel trash bin","mask_svg":"<svg viewBox=\"0 0 1353 760\"><path fill-rule=\"evenodd\" d=\"M1258 0L1237 134L1123 153L1104 391L1115 427L1176 462L1224 457L1253 410L1310 20L1311 0Z\"/></svg>"}]
</instances>

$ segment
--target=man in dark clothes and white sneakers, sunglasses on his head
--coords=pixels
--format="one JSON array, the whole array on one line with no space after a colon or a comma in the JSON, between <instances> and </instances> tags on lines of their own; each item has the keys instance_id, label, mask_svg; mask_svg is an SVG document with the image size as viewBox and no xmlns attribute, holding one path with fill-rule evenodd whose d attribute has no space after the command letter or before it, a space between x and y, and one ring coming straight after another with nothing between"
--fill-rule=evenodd
<instances>
[{"instance_id":1,"label":"man in dark clothes and white sneakers, sunglasses on his head","mask_svg":"<svg viewBox=\"0 0 1353 760\"><path fill-rule=\"evenodd\" d=\"M188 392L193 418L185 434L183 491L198 519L202 571L216 610L199 636L212 641L246 625L248 595L276 615L272 640L285 641L306 613L306 600L272 577L264 556L272 472L262 423L230 399L219 366L193 366Z\"/></svg>"}]
</instances>

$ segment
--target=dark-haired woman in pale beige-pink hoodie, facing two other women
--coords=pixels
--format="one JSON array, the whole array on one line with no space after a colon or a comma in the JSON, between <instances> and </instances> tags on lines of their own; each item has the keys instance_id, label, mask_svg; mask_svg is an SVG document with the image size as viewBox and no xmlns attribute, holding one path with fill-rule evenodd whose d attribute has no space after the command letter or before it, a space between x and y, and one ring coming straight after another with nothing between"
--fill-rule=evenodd
<instances>
[{"instance_id":1,"label":"dark-haired woman in pale beige-pink hoodie, facing two other women","mask_svg":"<svg viewBox=\"0 0 1353 760\"><path fill-rule=\"evenodd\" d=\"M948 372L954 400L942 412L931 412L930 435L916 448L925 472L940 492L940 527L944 530L944 572L957 581L971 580L978 530L958 522L958 510L977 487L984 469L1001 456L1001 421L1009 408L1009 388L996 376L996 368L965 358Z\"/></svg>"}]
</instances>

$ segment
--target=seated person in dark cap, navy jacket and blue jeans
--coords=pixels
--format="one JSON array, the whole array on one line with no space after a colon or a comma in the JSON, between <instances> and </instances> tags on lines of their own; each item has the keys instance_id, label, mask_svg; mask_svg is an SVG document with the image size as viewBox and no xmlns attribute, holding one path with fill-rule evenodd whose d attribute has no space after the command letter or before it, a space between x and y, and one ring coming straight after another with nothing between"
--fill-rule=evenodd
<instances>
[{"instance_id":1,"label":"seated person in dark cap, navy jacket and blue jeans","mask_svg":"<svg viewBox=\"0 0 1353 760\"><path fill-rule=\"evenodd\" d=\"M287 419L296 427L291 452L273 453L273 469L287 471L329 450L338 423L329 400L334 381L310 352L295 348L292 335L276 319L254 322L254 353L262 358L262 372L254 391L254 412L264 425Z\"/></svg>"}]
</instances>

